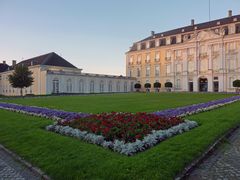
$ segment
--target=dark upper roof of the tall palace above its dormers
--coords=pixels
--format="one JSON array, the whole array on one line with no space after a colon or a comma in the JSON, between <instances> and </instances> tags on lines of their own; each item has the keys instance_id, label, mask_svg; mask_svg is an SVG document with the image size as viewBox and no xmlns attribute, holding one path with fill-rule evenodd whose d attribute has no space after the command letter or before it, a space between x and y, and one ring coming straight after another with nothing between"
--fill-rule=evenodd
<instances>
[{"instance_id":1,"label":"dark upper roof of the tall palace above its dormers","mask_svg":"<svg viewBox=\"0 0 240 180\"><path fill-rule=\"evenodd\" d=\"M166 37L166 36L180 34L180 33L183 33L182 32L183 29L184 29L184 33L186 33L186 32L194 31L195 27L197 27L197 30L201 30L201 29L212 28L212 27L216 27L216 26L222 26L222 25L233 23L234 19L237 19L236 22L240 22L240 15L235 15L235 16L226 17L226 18L217 19L217 20L208 21L208 22L199 23L199 24L194 24L194 25L190 25L190 26L184 26L184 27L173 29L173 30L170 30L170 31L157 33L157 34L154 35L154 37L149 36L149 37L147 37L147 38L145 38L145 39L143 39L139 42L146 41L146 40L151 40L151 39L154 39L154 38L160 38L160 37ZM218 22L220 22L220 24L218 24Z\"/></svg>"}]
</instances>

